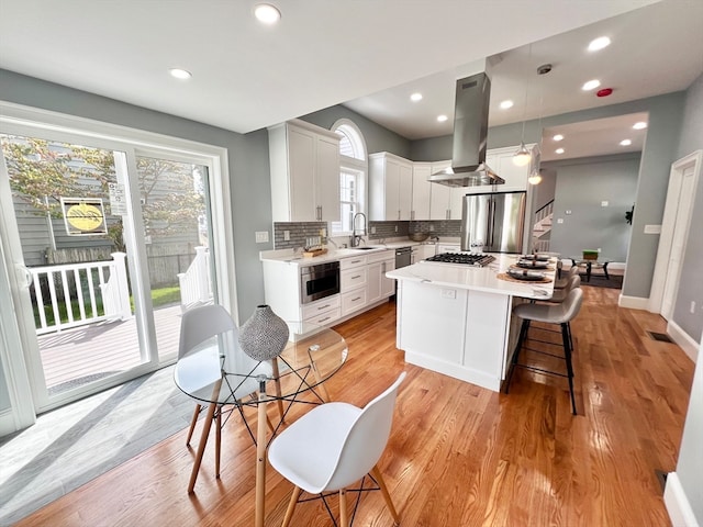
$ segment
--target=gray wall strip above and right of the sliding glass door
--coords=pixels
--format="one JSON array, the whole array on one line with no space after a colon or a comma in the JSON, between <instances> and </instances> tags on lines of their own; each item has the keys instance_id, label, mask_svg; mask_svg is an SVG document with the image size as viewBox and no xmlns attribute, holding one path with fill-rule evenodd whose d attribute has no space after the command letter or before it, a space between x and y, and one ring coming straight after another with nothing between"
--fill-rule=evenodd
<instances>
[{"instance_id":1,"label":"gray wall strip above and right of the sliding glass door","mask_svg":"<svg viewBox=\"0 0 703 527\"><path fill-rule=\"evenodd\" d=\"M248 318L256 305L264 302L264 274L258 253L272 248L272 244L256 244L254 233L271 229L266 131L242 135L3 69L0 69L0 97L16 104L226 148L234 217L239 322Z\"/></svg>"}]
</instances>

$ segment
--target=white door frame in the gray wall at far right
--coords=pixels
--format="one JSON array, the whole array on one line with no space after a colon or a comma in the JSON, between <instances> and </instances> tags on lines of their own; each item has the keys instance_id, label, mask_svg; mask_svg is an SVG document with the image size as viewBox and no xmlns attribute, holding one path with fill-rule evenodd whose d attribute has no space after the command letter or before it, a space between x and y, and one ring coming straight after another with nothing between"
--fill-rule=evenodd
<instances>
[{"instance_id":1,"label":"white door frame in the gray wall at far right","mask_svg":"<svg viewBox=\"0 0 703 527\"><path fill-rule=\"evenodd\" d=\"M688 192L681 195L681 186L683 183L683 172L693 168L693 189L692 192ZM661 313L663 304L663 294L667 287L667 280L673 280L673 283L679 282L679 276L681 273L681 265L683 264L683 254L677 255L679 262L676 269L669 269L669 261L671 259L671 248L673 243L674 228L684 228L684 239L689 237L689 228L691 225L691 216L693 213L693 200L695 199L695 191L703 169L703 150L695 150L688 156L671 164L671 171L669 172L669 188L667 190L667 202L663 211L663 218L661 222L661 235L659 237L659 248L657 249L657 259L655 262L655 273L651 282L651 290L649 293L649 306L648 310L651 313ZM683 211L688 211L685 217ZM681 249L682 251L683 249ZM672 299L672 305L676 304L676 292ZM671 317L673 313L661 313L665 318Z\"/></svg>"}]
</instances>

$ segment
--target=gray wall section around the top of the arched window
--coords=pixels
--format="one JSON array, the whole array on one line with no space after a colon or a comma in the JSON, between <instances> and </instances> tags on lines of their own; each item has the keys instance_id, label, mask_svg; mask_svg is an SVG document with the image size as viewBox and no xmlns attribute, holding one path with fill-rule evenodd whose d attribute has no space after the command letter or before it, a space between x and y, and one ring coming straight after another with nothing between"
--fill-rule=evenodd
<instances>
[{"instance_id":1,"label":"gray wall section around the top of the arched window","mask_svg":"<svg viewBox=\"0 0 703 527\"><path fill-rule=\"evenodd\" d=\"M341 104L320 110L319 112L309 113L300 119L327 130L331 130L339 119L348 119L349 121L354 121L354 124L356 124L361 131L361 134L364 134L368 154L390 152L397 156L410 159L409 139Z\"/></svg>"}]
</instances>

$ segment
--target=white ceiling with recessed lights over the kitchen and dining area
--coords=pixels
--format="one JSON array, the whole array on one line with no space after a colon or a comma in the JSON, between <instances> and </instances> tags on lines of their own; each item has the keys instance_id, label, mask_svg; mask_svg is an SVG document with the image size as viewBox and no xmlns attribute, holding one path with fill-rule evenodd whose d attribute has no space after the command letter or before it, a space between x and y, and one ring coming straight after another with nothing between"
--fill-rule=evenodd
<instances>
[{"instance_id":1,"label":"white ceiling with recessed lights over the kitchen and dining area","mask_svg":"<svg viewBox=\"0 0 703 527\"><path fill-rule=\"evenodd\" d=\"M346 103L411 139L451 133L455 81L488 56L491 125L682 90L703 71L701 0L272 0L275 27L255 3L0 0L0 67L239 133ZM613 44L587 55L600 34ZM613 94L581 92L591 77ZM515 106L494 110L505 98Z\"/></svg>"}]
</instances>

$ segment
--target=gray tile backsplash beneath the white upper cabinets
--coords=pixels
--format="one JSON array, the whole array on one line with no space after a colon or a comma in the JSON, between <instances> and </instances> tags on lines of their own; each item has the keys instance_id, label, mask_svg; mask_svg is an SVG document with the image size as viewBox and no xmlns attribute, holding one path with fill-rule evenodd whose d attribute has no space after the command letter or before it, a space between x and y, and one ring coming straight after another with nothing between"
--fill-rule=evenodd
<instances>
[{"instance_id":1,"label":"gray tile backsplash beneath the white upper cabinets","mask_svg":"<svg viewBox=\"0 0 703 527\"><path fill-rule=\"evenodd\" d=\"M326 243L330 226L325 222L274 223L274 248L295 249L304 247L309 238L320 236ZM286 235L288 233L288 236ZM421 222L369 222L369 240L397 238L411 233L429 233L432 236L459 237L460 220ZM288 239L286 239L288 237Z\"/></svg>"}]
</instances>

